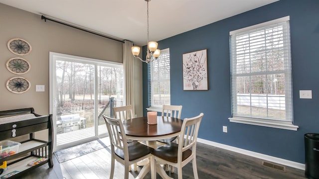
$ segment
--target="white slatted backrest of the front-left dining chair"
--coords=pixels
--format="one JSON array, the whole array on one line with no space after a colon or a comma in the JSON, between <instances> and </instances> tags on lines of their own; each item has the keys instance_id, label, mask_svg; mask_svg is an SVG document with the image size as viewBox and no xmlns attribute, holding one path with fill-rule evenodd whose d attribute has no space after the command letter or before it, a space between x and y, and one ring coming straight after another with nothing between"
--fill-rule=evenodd
<instances>
[{"instance_id":1,"label":"white slatted backrest of the front-left dining chair","mask_svg":"<svg viewBox=\"0 0 319 179\"><path fill-rule=\"evenodd\" d=\"M107 117L103 115L103 118L106 123L106 127L109 132L110 142L111 142L111 151L112 153L115 150L122 150L125 156L129 156L128 153L128 143L121 119Z\"/></svg>"}]
</instances>

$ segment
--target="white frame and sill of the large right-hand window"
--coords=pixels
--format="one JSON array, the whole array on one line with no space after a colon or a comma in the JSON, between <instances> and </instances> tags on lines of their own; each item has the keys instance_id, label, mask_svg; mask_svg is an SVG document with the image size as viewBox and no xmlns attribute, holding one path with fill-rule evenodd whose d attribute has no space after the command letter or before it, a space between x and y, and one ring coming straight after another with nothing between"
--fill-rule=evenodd
<instances>
[{"instance_id":1,"label":"white frame and sill of the large right-hand window","mask_svg":"<svg viewBox=\"0 0 319 179\"><path fill-rule=\"evenodd\" d=\"M285 120L280 120L280 119L269 119L269 118L260 118L260 117L256 117L256 116L244 116L244 115L234 115L234 111L233 111L233 108L234 108L234 105L235 107L237 106L237 104L234 104L237 99L237 93L234 92L234 90L236 90L236 87L234 86L237 86L237 83L236 82L233 82L233 77L238 77L238 74L233 74L235 72L235 69L233 69L232 67L232 64L233 64L233 60L236 60L236 56L233 56L232 54L232 51L236 51L236 49L232 49L232 47L234 46L234 44L232 44L232 35L236 35L236 34L242 34L242 33L247 33L247 34L250 34L251 31L253 30L257 30L257 29L260 29L260 28L264 28L264 29L267 29L269 28L270 26L273 26L273 25L276 25L278 23L283 23L283 22L288 22L288 27L287 29L283 29L283 31L285 30L288 30L288 33L290 33L290 27L289 27L289 21L290 21L290 16L286 16L286 17L282 17L282 18L278 18L278 19L275 19L275 20L271 20L271 21L267 21L267 22L264 22L264 23L260 23L260 24L256 24L256 25L252 25L252 26L249 26L249 27L245 27L245 28L241 28L241 29L238 29L238 30L234 30L234 31L230 31L229 32L229 35L230 35L230 72L231 72L231 105L232 105L232 117L229 117L229 121L230 122L236 122L236 123L244 123L244 124L252 124L252 125L259 125L259 126L267 126L267 127L273 127L273 128L280 128L280 129L288 129L288 130L297 130L299 126L296 126L293 124L293 101L292 101L292 69L290 67L289 69L289 73L290 75L288 77L285 76L285 84L288 84L288 87L286 88L290 88L290 89L286 89L286 92L288 91L289 92L289 97L288 99L290 100L288 103L287 103L287 98L285 97L285 100L286 100L286 112L289 112L289 115L291 116L291 118L289 118L289 120L287 120L287 118ZM283 41L286 42L287 39L284 39ZM250 42L250 41L249 41ZM236 43L236 42L235 42ZM290 63L290 66L291 66L291 51L290 51L290 48L291 48L291 43L290 43L290 34L289 34L289 63ZM236 48L236 47L235 47ZM265 50L266 51L266 50ZM233 59L235 58L235 59ZM285 59L287 60L287 59ZM286 63L286 62L285 62ZM270 72L272 73L272 72ZM253 72L250 72L248 73L249 75L248 76L253 76L252 74L254 74ZM257 73L258 74L258 73ZM269 72L267 72L266 74L269 74ZM278 72L278 74L280 74ZM245 76L245 75L243 75ZM286 93L285 92L285 93ZM287 94L287 93L286 93ZM252 96L252 93L249 94L249 96ZM235 97L235 98L233 98ZM268 104L268 102L266 102L266 104ZM250 105L252 106L252 105ZM268 105L267 105L268 106ZM289 110L287 111L287 107L289 107ZM268 109L268 107L267 107ZM252 115L252 114L250 114Z\"/></svg>"}]
</instances>

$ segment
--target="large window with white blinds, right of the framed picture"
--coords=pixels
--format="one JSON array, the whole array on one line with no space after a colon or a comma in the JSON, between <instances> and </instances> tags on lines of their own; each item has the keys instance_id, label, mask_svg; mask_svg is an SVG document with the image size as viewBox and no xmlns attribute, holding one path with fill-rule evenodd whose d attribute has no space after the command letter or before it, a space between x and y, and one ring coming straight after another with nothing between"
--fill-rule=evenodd
<instances>
[{"instance_id":1,"label":"large window with white blinds, right of the framed picture","mask_svg":"<svg viewBox=\"0 0 319 179\"><path fill-rule=\"evenodd\" d=\"M289 20L230 32L233 117L292 124Z\"/></svg>"}]
</instances>

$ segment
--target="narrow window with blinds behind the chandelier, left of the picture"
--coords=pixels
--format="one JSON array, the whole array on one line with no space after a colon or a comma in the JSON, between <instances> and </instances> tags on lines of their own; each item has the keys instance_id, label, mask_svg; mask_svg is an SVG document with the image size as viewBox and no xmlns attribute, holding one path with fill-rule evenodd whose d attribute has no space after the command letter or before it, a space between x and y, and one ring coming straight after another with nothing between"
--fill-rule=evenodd
<instances>
[{"instance_id":1,"label":"narrow window with blinds behind the chandelier, left of the picture","mask_svg":"<svg viewBox=\"0 0 319 179\"><path fill-rule=\"evenodd\" d=\"M170 105L169 48L160 51L160 57L149 64L149 102L152 108Z\"/></svg>"}]
</instances>

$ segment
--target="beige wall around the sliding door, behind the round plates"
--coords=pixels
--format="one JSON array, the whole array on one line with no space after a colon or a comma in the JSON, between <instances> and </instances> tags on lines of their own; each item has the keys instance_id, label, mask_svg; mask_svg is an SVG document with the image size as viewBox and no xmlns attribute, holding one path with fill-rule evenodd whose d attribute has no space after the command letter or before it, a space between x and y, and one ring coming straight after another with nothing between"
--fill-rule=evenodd
<instances>
[{"instance_id":1,"label":"beige wall around the sliding door, behind the round plates","mask_svg":"<svg viewBox=\"0 0 319 179\"><path fill-rule=\"evenodd\" d=\"M22 57L12 54L7 48L7 42L12 38L28 41L32 47L30 54ZM38 114L49 113L50 51L122 63L122 48L121 42L49 20L45 22L40 15L0 3L0 110L34 107ZM30 71L24 75L10 73L5 64L12 57L27 60ZM136 65L135 68L139 68L139 64ZM26 78L31 88L22 94L8 91L6 82L15 76ZM138 79L142 86L142 76ZM35 92L35 85L45 85L45 92Z\"/></svg>"}]
</instances>

